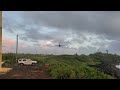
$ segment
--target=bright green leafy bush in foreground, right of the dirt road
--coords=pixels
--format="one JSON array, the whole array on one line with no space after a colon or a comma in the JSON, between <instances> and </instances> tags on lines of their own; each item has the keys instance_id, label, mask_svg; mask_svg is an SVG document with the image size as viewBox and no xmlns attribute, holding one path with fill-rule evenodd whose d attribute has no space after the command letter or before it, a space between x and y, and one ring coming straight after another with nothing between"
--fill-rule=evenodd
<instances>
[{"instance_id":1,"label":"bright green leafy bush in foreground, right of the dirt road","mask_svg":"<svg viewBox=\"0 0 120 90\"><path fill-rule=\"evenodd\" d=\"M50 75L55 79L112 79L110 75L89 67L85 63L55 62L50 64Z\"/></svg>"}]
</instances>

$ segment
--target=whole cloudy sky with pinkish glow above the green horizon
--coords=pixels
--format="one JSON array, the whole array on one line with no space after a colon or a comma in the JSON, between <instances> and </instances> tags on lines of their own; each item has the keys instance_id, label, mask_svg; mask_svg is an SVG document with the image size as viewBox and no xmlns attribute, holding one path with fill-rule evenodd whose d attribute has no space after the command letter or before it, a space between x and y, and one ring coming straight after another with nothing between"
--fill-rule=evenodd
<instances>
[{"instance_id":1,"label":"whole cloudy sky with pinkish glow above the green horizon","mask_svg":"<svg viewBox=\"0 0 120 90\"><path fill-rule=\"evenodd\" d=\"M3 11L3 53L16 51L17 34L18 53L120 54L120 11Z\"/></svg>"}]
</instances>

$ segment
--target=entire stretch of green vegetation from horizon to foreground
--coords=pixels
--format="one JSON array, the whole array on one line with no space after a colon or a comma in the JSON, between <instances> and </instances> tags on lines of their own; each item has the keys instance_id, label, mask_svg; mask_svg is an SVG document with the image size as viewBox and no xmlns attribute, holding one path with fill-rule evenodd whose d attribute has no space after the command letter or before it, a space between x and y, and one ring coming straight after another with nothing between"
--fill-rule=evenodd
<instances>
[{"instance_id":1,"label":"entire stretch of green vegetation from horizon to foreground","mask_svg":"<svg viewBox=\"0 0 120 90\"><path fill-rule=\"evenodd\" d=\"M97 67L103 62L116 63L120 56L97 52L90 55L34 55L19 54L18 58L30 58L39 65L49 64L49 75L54 79L114 79L118 78ZM15 63L15 54L3 54L4 66Z\"/></svg>"}]
</instances>

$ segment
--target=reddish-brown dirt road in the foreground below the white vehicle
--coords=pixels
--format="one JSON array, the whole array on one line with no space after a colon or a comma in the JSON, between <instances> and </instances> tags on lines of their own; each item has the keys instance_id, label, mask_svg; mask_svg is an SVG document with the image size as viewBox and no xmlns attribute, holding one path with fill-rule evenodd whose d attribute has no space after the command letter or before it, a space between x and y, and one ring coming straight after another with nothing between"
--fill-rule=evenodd
<instances>
[{"instance_id":1,"label":"reddish-brown dirt road in the foreground below the white vehicle","mask_svg":"<svg viewBox=\"0 0 120 90\"><path fill-rule=\"evenodd\" d=\"M13 70L0 75L0 79L51 79L45 66L14 66Z\"/></svg>"}]
</instances>

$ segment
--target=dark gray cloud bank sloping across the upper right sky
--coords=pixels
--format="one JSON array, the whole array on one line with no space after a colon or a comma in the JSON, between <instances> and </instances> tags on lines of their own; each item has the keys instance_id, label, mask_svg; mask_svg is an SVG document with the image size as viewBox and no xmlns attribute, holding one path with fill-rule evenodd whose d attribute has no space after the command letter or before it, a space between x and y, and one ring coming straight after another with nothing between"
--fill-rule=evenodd
<instances>
[{"instance_id":1,"label":"dark gray cloud bank sloping across the upper right sky","mask_svg":"<svg viewBox=\"0 0 120 90\"><path fill-rule=\"evenodd\" d=\"M116 20L120 22L120 12L117 11L23 12L23 17L34 24L60 30L72 29L77 33L87 31L111 37L118 37L120 34L120 27L115 27L118 23Z\"/></svg>"}]
</instances>

